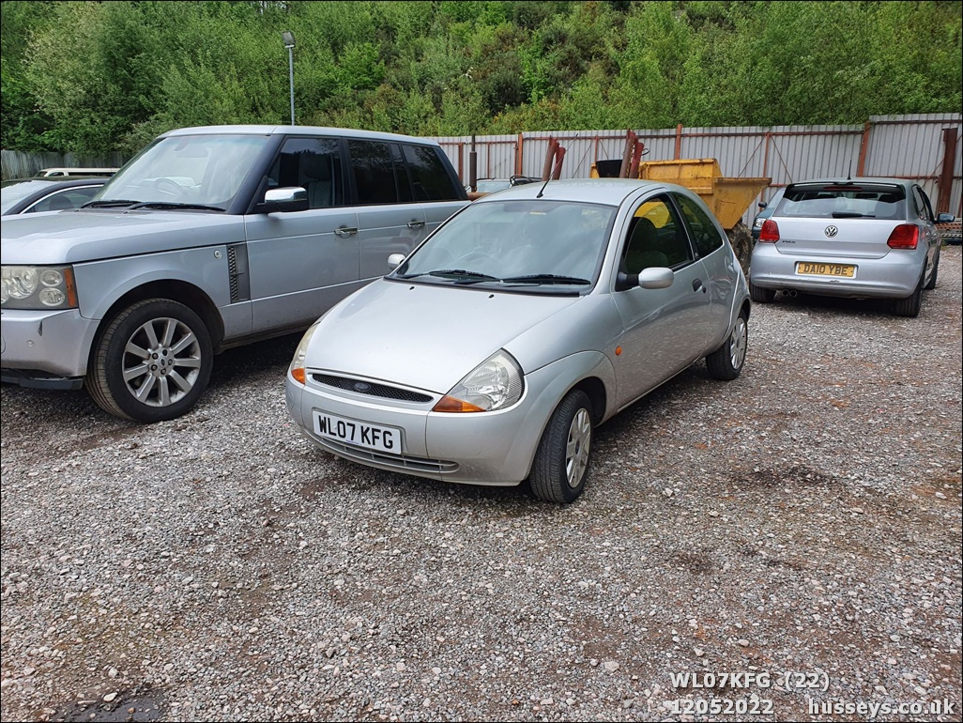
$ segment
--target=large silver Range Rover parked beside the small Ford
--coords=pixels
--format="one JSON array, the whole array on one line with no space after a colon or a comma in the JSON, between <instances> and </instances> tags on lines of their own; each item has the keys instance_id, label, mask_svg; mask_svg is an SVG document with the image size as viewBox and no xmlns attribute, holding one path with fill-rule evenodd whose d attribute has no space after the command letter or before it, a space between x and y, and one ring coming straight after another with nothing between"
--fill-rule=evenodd
<instances>
[{"instance_id":1,"label":"large silver Range Rover parked beside the small Ford","mask_svg":"<svg viewBox=\"0 0 963 723\"><path fill-rule=\"evenodd\" d=\"M303 329L468 203L436 142L304 126L164 134L80 209L5 219L3 381L143 422L221 349Z\"/></svg>"}]
</instances>

